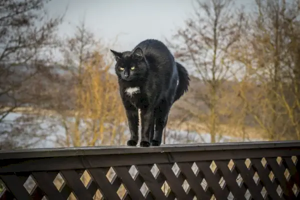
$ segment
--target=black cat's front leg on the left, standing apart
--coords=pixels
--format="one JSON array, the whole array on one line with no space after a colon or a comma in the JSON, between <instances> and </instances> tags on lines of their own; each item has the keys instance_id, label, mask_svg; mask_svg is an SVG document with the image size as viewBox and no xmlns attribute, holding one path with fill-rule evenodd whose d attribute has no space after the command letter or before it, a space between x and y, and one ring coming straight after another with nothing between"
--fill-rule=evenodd
<instances>
[{"instance_id":1,"label":"black cat's front leg on the left, standing apart","mask_svg":"<svg viewBox=\"0 0 300 200\"><path fill-rule=\"evenodd\" d=\"M138 141L138 110L133 105L125 106L128 126L130 130L130 139L127 141L128 146L136 146Z\"/></svg>"}]
</instances>

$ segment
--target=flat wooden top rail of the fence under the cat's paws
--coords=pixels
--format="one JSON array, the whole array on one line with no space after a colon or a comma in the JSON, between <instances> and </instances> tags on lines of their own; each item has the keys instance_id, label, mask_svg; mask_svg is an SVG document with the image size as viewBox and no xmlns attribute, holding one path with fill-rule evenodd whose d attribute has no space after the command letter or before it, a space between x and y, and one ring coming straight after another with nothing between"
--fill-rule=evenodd
<instances>
[{"instance_id":1,"label":"flat wooden top rail of the fence under the cat's paws","mask_svg":"<svg viewBox=\"0 0 300 200\"><path fill-rule=\"evenodd\" d=\"M163 153L211 150L239 150L239 149L268 149L300 147L300 141L251 141L251 142L222 142L222 143L188 143L164 144L161 146L132 147L125 145L93 146L93 147L59 147L59 148L31 148L16 150L0 150L0 159L59 157L80 155L107 155L128 153ZM237 151L238 152L238 151Z\"/></svg>"}]
</instances>

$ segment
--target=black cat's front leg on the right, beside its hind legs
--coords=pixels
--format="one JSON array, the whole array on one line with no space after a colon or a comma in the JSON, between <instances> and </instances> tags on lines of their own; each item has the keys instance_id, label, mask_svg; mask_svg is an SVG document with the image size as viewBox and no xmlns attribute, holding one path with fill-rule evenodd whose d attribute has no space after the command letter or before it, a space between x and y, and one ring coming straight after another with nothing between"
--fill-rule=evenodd
<instances>
[{"instance_id":1,"label":"black cat's front leg on the right, beside its hind legs","mask_svg":"<svg viewBox=\"0 0 300 200\"><path fill-rule=\"evenodd\" d=\"M141 138L140 138L140 146L148 147L150 146L150 136L151 131L153 131L153 109L146 108L140 110L140 118L141 118Z\"/></svg>"}]
</instances>

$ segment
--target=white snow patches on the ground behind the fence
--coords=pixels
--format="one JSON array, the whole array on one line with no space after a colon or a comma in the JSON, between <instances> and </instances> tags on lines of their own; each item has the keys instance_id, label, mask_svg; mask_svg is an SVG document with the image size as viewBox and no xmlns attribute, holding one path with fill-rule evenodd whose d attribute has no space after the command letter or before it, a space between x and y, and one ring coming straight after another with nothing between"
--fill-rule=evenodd
<instances>
[{"instance_id":1,"label":"white snow patches on the ground behind the fence","mask_svg":"<svg viewBox=\"0 0 300 200\"><path fill-rule=\"evenodd\" d=\"M4 120L7 124L13 122L18 117L21 117L22 114L20 113L9 113ZM53 120L53 118L49 119L38 119L37 122L39 123L38 127L39 129L36 129L36 131L40 132L46 132L50 131L51 134L49 134L45 139L43 139L41 142L35 144L32 146L33 148L48 148L48 147L55 147L55 140L57 136L63 136L64 135L64 128L59 124L58 121ZM53 125L54 124L54 125ZM9 129L9 126L3 126L3 123L0 124L0 128L6 128ZM129 131L128 129L124 131L125 135L128 135L129 138ZM22 138L22 137L21 137ZM3 138L0 137L0 140L3 140ZM240 137L231 137L222 135L220 138L216 138L219 142L231 142L231 141L242 141L242 138ZM243 141L260 141L262 139L256 138L256 139L244 139ZM209 143L211 141L211 136L209 133L205 132L187 132L184 130L172 130L166 128L166 139L165 143Z\"/></svg>"}]
</instances>

